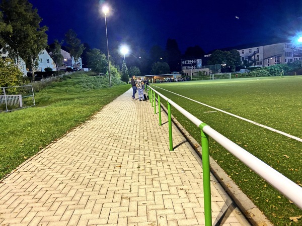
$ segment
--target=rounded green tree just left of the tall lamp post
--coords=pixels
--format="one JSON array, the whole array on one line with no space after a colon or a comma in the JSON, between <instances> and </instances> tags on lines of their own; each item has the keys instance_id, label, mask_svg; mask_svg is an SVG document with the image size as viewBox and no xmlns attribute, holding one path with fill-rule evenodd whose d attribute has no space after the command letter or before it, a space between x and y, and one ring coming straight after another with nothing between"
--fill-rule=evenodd
<instances>
[{"instance_id":1,"label":"rounded green tree just left of the tall lamp post","mask_svg":"<svg viewBox=\"0 0 302 226\"><path fill-rule=\"evenodd\" d=\"M93 48L87 52L87 63L93 71L106 74L108 63L105 54L99 49Z\"/></svg>"}]
</instances>

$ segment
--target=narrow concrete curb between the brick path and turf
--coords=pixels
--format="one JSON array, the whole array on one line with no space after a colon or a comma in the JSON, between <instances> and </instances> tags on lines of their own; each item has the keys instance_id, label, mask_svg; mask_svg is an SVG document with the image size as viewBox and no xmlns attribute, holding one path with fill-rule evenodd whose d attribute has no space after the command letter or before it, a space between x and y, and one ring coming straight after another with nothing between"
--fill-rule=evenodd
<instances>
[{"instance_id":1,"label":"narrow concrete curb between the brick path and turf","mask_svg":"<svg viewBox=\"0 0 302 226\"><path fill-rule=\"evenodd\" d=\"M168 110L161 104L162 109L168 115ZM202 160L200 152L201 146L198 142L186 131L186 129L175 119L172 115L172 122L183 134L183 136L191 144L196 154ZM245 217L252 225L255 226L272 226L273 224L266 218L263 212L252 202L248 196L237 186L237 184L224 172L224 170L216 163L210 156L210 171L216 180L222 185L224 190L231 196L231 198L238 205L240 210L245 214Z\"/></svg>"}]
</instances>

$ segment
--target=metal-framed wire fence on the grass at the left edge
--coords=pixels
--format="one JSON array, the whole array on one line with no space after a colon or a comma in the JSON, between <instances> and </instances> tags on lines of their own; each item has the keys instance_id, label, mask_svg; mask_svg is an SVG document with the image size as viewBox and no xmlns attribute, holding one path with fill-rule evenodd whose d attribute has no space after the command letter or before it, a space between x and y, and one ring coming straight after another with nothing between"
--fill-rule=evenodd
<instances>
[{"instance_id":1,"label":"metal-framed wire fence on the grass at the left edge","mask_svg":"<svg viewBox=\"0 0 302 226\"><path fill-rule=\"evenodd\" d=\"M0 87L0 112L35 106L31 85Z\"/></svg>"}]
</instances>

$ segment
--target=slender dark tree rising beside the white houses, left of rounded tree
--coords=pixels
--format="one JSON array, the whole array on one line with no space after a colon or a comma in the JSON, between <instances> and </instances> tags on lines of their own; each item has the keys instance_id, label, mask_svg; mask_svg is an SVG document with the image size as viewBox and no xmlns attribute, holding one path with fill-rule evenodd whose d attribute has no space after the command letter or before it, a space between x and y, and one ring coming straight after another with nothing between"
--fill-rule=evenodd
<instances>
[{"instance_id":1,"label":"slender dark tree rising beside the white houses, left of rounded tree","mask_svg":"<svg viewBox=\"0 0 302 226\"><path fill-rule=\"evenodd\" d=\"M83 53L85 47L84 44L81 43L81 40L77 38L77 33L73 30L69 29L65 34L66 48L71 57L77 61L81 54Z\"/></svg>"}]
</instances>

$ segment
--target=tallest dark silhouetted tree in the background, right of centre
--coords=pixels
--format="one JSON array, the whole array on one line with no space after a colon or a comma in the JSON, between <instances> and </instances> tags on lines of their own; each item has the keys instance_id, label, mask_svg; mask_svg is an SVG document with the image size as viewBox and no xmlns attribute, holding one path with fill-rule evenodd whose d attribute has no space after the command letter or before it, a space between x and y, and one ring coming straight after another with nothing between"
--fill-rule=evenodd
<instances>
[{"instance_id":1,"label":"tallest dark silhouetted tree in the background, right of centre","mask_svg":"<svg viewBox=\"0 0 302 226\"><path fill-rule=\"evenodd\" d=\"M166 45L167 62L172 71L180 71L181 69L181 51L178 48L175 39L168 39Z\"/></svg>"}]
</instances>

